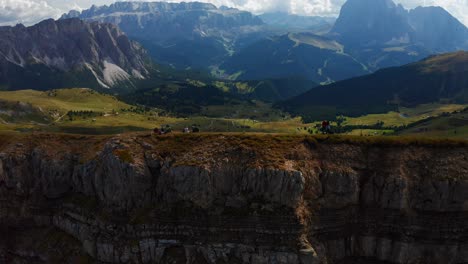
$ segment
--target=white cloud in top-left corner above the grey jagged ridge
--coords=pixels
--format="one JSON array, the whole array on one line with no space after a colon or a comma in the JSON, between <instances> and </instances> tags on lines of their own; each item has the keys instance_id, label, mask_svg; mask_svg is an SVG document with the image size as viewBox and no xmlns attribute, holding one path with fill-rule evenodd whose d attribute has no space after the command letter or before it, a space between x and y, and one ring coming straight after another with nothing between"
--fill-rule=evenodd
<instances>
[{"instance_id":1,"label":"white cloud in top-left corner above the grey jagged ridge","mask_svg":"<svg viewBox=\"0 0 468 264\"><path fill-rule=\"evenodd\" d=\"M59 12L44 0L0 0L0 25L32 24Z\"/></svg>"}]
</instances>

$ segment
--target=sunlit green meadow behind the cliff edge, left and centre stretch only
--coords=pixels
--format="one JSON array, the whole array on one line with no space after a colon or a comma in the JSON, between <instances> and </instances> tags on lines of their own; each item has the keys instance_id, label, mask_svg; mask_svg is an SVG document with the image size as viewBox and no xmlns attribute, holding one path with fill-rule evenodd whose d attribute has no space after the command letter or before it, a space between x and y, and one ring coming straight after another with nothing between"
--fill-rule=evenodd
<instances>
[{"instance_id":1,"label":"sunlit green meadow behind the cliff edge, left and centre stretch only","mask_svg":"<svg viewBox=\"0 0 468 264\"><path fill-rule=\"evenodd\" d=\"M22 90L0 92L0 100L12 104L27 103L35 110L48 117L48 122L37 123L25 118L10 118L10 122L0 119L2 131L65 132L80 134L115 134L130 131L150 130L169 124L179 131L184 127L197 125L206 132L273 132L306 134L299 118L283 116L279 111L264 103L240 105L239 109L223 105L210 106L203 110L207 116L177 118L161 115L158 109L136 111L137 107L123 103L113 96L97 93L93 90L75 88L60 89L50 92ZM70 111L93 111L99 113L92 117L73 116ZM262 117L264 121L257 121Z\"/></svg>"}]
</instances>

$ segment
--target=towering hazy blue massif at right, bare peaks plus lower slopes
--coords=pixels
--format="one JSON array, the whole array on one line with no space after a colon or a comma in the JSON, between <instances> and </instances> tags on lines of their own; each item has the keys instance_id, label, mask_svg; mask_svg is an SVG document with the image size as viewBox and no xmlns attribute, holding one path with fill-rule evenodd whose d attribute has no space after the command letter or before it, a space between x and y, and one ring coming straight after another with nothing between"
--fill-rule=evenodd
<instances>
[{"instance_id":1,"label":"towering hazy blue massif at right, bare peaks plus lower slopes","mask_svg":"<svg viewBox=\"0 0 468 264\"><path fill-rule=\"evenodd\" d=\"M392 0L346 1L331 35L372 71L468 48L468 28L443 8Z\"/></svg>"}]
</instances>

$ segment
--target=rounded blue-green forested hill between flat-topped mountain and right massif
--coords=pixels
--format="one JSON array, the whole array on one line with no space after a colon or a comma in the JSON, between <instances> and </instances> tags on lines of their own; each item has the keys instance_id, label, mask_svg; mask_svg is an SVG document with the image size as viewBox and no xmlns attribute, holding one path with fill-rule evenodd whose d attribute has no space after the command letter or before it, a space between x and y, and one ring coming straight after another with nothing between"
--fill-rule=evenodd
<instances>
[{"instance_id":1,"label":"rounded blue-green forested hill between flat-topped mountain and right massif","mask_svg":"<svg viewBox=\"0 0 468 264\"><path fill-rule=\"evenodd\" d=\"M308 33L260 40L236 53L221 68L237 80L300 76L317 83L368 73L336 41Z\"/></svg>"}]
</instances>

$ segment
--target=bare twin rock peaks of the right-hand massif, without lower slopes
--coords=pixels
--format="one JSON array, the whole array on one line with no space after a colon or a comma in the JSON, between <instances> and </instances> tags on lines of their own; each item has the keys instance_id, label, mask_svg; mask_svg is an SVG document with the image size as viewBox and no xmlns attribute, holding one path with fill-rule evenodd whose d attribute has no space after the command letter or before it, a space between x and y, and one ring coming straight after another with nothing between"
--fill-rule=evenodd
<instances>
[{"instance_id":1,"label":"bare twin rock peaks of the right-hand massif, without lower slopes","mask_svg":"<svg viewBox=\"0 0 468 264\"><path fill-rule=\"evenodd\" d=\"M350 46L418 44L437 52L468 47L467 28L442 7L406 10L392 0L348 0L331 32Z\"/></svg>"}]
</instances>

